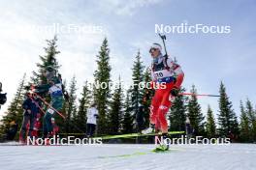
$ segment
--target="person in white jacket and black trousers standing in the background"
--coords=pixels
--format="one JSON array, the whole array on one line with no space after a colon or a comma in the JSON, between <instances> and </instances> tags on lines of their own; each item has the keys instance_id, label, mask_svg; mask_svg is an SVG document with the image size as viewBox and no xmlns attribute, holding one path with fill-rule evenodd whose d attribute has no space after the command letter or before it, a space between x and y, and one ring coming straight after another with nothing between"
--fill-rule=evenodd
<instances>
[{"instance_id":1,"label":"person in white jacket and black trousers standing in the background","mask_svg":"<svg viewBox=\"0 0 256 170\"><path fill-rule=\"evenodd\" d=\"M87 109L87 124L86 124L86 137L91 137L94 134L99 118L99 112L96 108L96 103L91 104Z\"/></svg>"}]
</instances>

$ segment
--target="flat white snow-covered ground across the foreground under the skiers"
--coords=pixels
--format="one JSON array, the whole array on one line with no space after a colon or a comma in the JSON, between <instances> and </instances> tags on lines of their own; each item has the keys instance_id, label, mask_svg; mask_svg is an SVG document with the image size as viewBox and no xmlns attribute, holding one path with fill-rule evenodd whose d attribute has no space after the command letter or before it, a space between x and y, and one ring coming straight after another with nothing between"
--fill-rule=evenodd
<instances>
[{"instance_id":1,"label":"flat white snow-covered ground across the foreground under the skiers","mask_svg":"<svg viewBox=\"0 0 256 170\"><path fill-rule=\"evenodd\" d=\"M1 146L0 169L61 170L255 170L256 145L172 146L167 153L154 145Z\"/></svg>"}]
</instances>

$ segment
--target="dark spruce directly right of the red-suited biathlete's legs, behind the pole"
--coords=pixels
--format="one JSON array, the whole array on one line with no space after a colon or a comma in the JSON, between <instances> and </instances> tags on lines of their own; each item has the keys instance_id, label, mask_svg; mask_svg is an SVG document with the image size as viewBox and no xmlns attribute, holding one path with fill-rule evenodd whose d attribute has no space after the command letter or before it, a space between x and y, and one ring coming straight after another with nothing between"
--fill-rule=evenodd
<instances>
[{"instance_id":1,"label":"dark spruce directly right of the red-suited biathlete's legs, behind the pole","mask_svg":"<svg viewBox=\"0 0 256 170\"><path fill-rule=\"evenodd\" d=\"M185 89L180 89L179 93L183 92L185 92ZM182 95L177 96L176 99L173 101L169 116L171 130L185 131L186 101L187 97Z\"/></svg>"}]
</instances>

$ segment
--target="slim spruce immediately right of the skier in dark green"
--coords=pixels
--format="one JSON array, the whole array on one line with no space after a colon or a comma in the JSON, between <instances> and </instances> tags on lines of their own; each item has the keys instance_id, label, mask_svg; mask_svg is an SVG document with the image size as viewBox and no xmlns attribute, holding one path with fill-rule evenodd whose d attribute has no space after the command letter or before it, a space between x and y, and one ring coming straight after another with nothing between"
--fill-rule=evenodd
<instances>
[{"instance_id":1,"label":"slim spruce immediately right of the skier in dark green","mask_svg":"<svg viewBox=\"0 0 256 170\"><path fill-rule=\"evenodd\" d=\"M66 132L71 132L72 130L75 130L74 127L75 123L73 122L73 119L76 116L77 111L77 105L76 105L76 99L77 99L77 80L76 77L73 76L70 87L69 87L69 102L67 105L67 113L66 113ZM75 131L74 131L75 132Z\"/></svg>"}]
</instances>

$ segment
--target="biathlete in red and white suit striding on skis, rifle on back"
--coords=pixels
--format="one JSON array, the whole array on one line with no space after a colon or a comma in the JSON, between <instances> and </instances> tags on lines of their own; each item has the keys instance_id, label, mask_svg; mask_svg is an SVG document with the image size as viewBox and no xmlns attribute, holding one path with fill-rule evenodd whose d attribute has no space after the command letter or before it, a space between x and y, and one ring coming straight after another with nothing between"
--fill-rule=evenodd
<instances>
[{"instance_id":1,"label":"biathlete in red and white suit striding on skis, rifle on back","mask_svg":"<svg viewBox=\"0 0 256 170\"><path fill-rule=\"evenodd\" d=\"M163 138L168 135L168 123L166 114L172 106L171 99L174 99L179 92L183 81L184 73L181 67L168 55L162 54L162 46L153 43L149 48L149 53L153 59L151 64L151 88L155 90L150 105L150 124L151 126L143 133L154 131L161 132ZM157 149L168 150L168 145L160 145Z\"/></svg>"}]
</instances>

